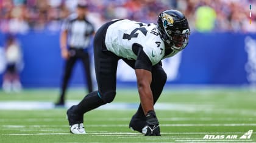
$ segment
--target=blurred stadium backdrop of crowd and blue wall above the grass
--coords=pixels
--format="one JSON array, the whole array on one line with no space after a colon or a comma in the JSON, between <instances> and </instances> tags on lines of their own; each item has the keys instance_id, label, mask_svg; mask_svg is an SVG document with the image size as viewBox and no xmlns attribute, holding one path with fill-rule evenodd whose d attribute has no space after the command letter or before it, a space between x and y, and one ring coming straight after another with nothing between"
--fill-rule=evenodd
<instances>
[{"instance_id":1,"label":"blurred stadium backdrop of crowd and blue wall above the grass","mask_svg":"<svg viewBox=\"0 0 256 143\"><path fill-rule=\"evenodd\" d=\"M60 87L63 59L60 27L77 0L0 0L0 84L7 62L17 61L16 90ZM157 22L166 9L185 14L190 43L183 52L163 60L168 85L256 85L256 1L253 0L86 0L88 19L97 30L111 19ZM251 5L251 10L250 10ZM251 12L251 18L250 18ZM250 22L251 19L251 22ZM10 48L5 55L4 47ZM92 49L91 44L91 49ZM17 50L18 49L18 50ZM91 50L91 55L92 50ZM93 60L91 60L93 62ZM92 64L93 65L93 64ZM92 67L93 69L93 67ZM93 73L93 71L92 71ZM84 87L77 64L69 86ZM135 74L120 61L118 85L133 86ZM95 81L94 81L95 82ZM95 83L94 83L95 84Z\"/></svg>"}]
</instances>

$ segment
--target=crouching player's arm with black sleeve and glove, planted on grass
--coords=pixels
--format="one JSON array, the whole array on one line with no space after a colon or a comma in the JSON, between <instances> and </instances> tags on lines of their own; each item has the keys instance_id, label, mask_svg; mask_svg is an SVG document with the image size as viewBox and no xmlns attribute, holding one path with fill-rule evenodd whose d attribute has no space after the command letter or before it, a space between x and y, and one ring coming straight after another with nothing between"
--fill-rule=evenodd
<instances>
[{"instance_id":1,"label":"crouching player's arm with black sleeve and glove, planted on grass","mask_svg":"<svg viewBox=\"0 0 256 143\"><path fill-rule=\"evenodd\" d=\"M154 111L154 99L151 91L152 62L138 45L133 45L133 52L137 53L135 62L135 73L137 76L138 92L140 95L141 107L146 116L146 136L160 136L160 127ZM137 49L137 52L136 50Z\"/></svg>"}]
</instances>

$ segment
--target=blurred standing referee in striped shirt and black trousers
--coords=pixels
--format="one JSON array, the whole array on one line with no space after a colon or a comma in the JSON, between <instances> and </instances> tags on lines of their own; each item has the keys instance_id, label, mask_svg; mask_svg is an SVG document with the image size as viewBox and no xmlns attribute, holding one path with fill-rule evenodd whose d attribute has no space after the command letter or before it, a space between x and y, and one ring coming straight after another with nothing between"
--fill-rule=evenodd
<instances>
[{"instance_id":1,"label":"blurred standing referee in striped shirt and black trousers","mask_svg":"<svg viewBox=\"0 0 256 143\"><path fill-rule=\"evenodd\" d=\"M55 106L65 105L65 91L68 87L68 82L71 77L74 64L79 59L84 65L88 92L90 93L93 91L88 47L94 33L94 28L86 19L86 14L87 5L79 3L76 7L76 13L68 16L68 18L63 22L62 33L60 34L60 48L62 58L65 59L66 64L59 101L55 103Z\"/></svg>"}]
</instances>

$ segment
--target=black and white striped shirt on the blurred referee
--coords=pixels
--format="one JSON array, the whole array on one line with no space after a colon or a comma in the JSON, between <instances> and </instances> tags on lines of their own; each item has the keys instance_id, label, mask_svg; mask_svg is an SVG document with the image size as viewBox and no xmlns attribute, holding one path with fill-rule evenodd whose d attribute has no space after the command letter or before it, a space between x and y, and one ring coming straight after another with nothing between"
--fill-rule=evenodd
<instances>
[{"instance_id":1,"label":"black and white striped shirt on the blurred referee","mask_svg":"<svg viewBox=\"0 0 256 143\"><path fill-rule=\"evenodd\" d=\"M68 46L73 48L88 48L93 25L86 18L79 20L77 14L72 14L65 19L62 31L68 30Z\"/></svg>"}]
</instances>

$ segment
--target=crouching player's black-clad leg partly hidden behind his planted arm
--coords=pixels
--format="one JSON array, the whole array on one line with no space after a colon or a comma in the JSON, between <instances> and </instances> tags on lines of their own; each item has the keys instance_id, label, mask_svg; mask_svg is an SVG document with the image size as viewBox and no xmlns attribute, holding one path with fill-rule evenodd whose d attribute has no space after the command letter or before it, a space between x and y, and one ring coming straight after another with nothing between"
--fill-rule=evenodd
<instances>
[{"instance_id":1,"label":"crouching player's black-clad leg partly hidden behind his planted arm","mask_svg":"<svg viewBox=\"0 0 256 143\"><path fill-rule=\"evenodd\" d=\"M161 64L157 64L152 67L152 82L151 82L151 90L154 98L154 104L157 102L157 99L162 93L163 87L165 85L167 76L165 71L162 68ZM133 130L137 130L142 132L143 127L146 125L146 117L144 116L143 108L138 107L135 115L132 116L129 127Z\"/></svg>"}]
</instances>

